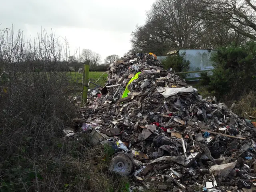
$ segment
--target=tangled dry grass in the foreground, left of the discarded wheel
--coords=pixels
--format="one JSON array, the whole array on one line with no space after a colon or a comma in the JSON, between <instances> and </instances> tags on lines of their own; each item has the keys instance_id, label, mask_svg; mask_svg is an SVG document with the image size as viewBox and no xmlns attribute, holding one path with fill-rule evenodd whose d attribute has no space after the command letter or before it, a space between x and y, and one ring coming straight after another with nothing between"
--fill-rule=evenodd
<instances>
[{"instance_id":1,"label":"tangled dry grass in the foreground, left of the discarded wheel","mask_svg":"<svg viewBox=\"0 0 256 192\"><path fill-rule=\"evenodd\" d=\"M65 191L128 192L129 179L108 171L102 146L92 147L86 135L69 140L64 148L69 154L62 156L58 168L61 174L59 189ZM64 150L64 151L65 151ZM55 162L56 163L56 162Z\"/></svg>"}]
</instances>

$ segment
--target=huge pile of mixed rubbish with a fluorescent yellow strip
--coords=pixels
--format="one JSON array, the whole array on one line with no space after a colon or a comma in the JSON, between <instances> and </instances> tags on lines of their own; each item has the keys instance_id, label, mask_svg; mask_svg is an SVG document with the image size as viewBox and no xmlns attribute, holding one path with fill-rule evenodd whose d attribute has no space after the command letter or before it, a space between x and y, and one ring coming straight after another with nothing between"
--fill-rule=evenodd
<instances>
[{"instance_id":1,"label":"huge pile of mixed rubbish with a fluorescent yellow strip","mask_svg":"<svg viewBox=\"0 0 256 192\"><path fill-rule=\"evenodd\" d=\"M256 128L232 107L139 53L110 65L108 84L74 122L114 150L109 169L134 179L130 191L251 192Z\"/></svg>"}]
</instances>

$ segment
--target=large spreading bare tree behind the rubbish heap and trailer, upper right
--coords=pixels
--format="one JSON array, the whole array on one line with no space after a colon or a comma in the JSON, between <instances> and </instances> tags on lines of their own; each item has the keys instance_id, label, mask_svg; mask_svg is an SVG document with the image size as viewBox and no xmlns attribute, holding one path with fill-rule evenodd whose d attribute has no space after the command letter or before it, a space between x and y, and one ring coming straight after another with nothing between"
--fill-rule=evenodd
<instances>
[{"instance_id":1,"label":"large spreading bare tree behind the rubbish heap and trailer, upper right","mask_svg":"<svg viewBox=\"0 0 256 192\"><path fill-rule=\"evenodd\" d=\"M147 13L146 24L132 32L132 47L164 55L176 49L215 49L231 43L243 44L248 36L226 24L226 16L220 16L219 12L212 14L220 6L216 2L228 1L231 2L213 0L214 4L212 0L157 0Z\"/></svg>"}]
</instances>

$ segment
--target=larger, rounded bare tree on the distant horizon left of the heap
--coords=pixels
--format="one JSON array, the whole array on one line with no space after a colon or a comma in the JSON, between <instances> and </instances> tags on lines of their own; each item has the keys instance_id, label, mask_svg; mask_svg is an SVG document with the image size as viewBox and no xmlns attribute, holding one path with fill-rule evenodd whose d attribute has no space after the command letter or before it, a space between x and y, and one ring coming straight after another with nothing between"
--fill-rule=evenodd
<instances>
[{"instance_id":1,"label":"larger, rounded bare tree on the distant horizon left of the heap","mask_svg":"<svg viewBox=\"0 0 256 192\"><path fill-rule=\"evenodd\" d=\"M83 63L88 63L90 66L96 66L99 64L100 54L93 52L90 49L83 49L80 55L80 60Z\"/></svg>"}]
</instances>

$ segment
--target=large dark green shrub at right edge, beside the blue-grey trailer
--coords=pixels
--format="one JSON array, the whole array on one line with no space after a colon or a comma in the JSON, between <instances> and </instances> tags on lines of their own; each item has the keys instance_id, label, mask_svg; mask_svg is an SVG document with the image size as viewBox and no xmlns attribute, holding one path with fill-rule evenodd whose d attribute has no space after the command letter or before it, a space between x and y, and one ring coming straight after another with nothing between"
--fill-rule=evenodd
<instances>
[{"instance_id":1,"label":"large dark green shrub at right edge, beside the blue-grey trailer","mask_svg":"<svg viewBox=\"0 0 256 192\"><path fill-rule=\"evenodd\" d=\"M220 48L211 60L214 70L208 89L217 97L239 100L243 94L256 89L256 43ZM207 80L205 76L204 80Z\"/></svg>"}]
</instances>

